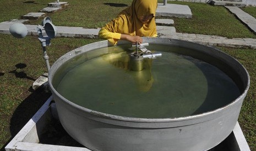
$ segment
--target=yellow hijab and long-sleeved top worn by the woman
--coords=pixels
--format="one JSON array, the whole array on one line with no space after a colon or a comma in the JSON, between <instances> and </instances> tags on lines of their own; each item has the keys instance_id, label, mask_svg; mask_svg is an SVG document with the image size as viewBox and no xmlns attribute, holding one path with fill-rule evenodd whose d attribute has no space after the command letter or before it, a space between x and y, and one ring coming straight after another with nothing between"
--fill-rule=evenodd
<instances>
[{"instance_id":1,"label":"yellow hijab and long-sleeved top worn by the woman","mask_svg":"<svg viewBox=\"0 0 256 151\"><path fill-rule=\"evenodd\" d=\"M156 34L155 19L143 24L139 17L153 14L155 17L157 0L133 0L130 7L119 13L112 24L105 26L106 30L115 33L130 34L132 36L153 37Z\"/></svg>"}]
</instances>

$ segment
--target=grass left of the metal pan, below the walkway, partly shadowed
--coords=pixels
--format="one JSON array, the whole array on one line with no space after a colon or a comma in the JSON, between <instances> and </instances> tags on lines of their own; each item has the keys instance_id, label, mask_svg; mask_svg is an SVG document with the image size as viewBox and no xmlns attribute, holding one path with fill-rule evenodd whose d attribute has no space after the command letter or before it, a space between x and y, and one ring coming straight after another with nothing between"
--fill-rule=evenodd
<instances>
[{"instance_id":1,"label":"grass left of the metal pan, below the walkway, partly shadowed","mask_svg":"<svg viewBox=\"0 0 256 151\"><path fill-rule=\"evenodd\" d=\"M0 34L0 148L14 137L42 106L49 93L32 91L35 79L46 73L37 37L17 39ZM55 38L47 47L50 64L68 51L100 39ZM25 105L26 104L26 105ZM3 149L3 148L2 148Z\"/></svg>"}]
</instances>

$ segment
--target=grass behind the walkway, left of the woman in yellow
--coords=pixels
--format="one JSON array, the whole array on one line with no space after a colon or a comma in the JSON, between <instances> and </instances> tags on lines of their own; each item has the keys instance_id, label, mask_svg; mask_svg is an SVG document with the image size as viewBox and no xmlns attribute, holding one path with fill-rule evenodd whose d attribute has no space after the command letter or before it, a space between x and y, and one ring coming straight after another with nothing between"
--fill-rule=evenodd
<instances>
[{"instance_id":1,"label":"grass behind the walkway, left of the woman in yellow","mask_svg":"<svg viewBox=\"0 0 256 151\"><path fill-rule=\"evenodd\" d=\"M26 3L32 2L32 3ZM31 12L39 12L42 8L47 7L48 3L53 1L35 0L35 1L3 1L0 9L0 22L11 19L20 19L21 16ZM132 3L132 0L73 0L69 1L69 6L58 13L47 13L53 24L56 26L74 26L85 28L98 28L104 26L112 18ZM119 7L113 7L110 3L122 4ZM10 7L12 7L10 9ZM8 12L8 13L6 13ZM30 20L25 24L39 25L40 20Z\"/></svg>"}]
</instances>

